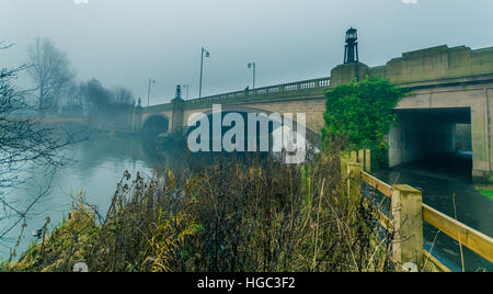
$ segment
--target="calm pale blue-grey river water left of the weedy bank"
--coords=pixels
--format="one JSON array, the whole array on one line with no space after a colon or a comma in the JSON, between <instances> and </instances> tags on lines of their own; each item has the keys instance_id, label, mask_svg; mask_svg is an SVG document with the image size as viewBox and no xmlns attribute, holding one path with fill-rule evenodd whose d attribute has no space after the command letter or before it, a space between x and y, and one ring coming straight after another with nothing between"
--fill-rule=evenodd
<instances>
[{"instance_id":1,"label":"calm pale blue-grey river water left of the weedy bank","mask_svg":"<svg viewBox=\"0 0 493 294\"><path fill-rule=\"evenodd\" d=\"M43 227L47 216L51 218L53 225L62 219L64 214L70 210L72 195L79 189L83 190L88 202L95 204L104 213L125 170L133 176L140 171L145 178L150 178L154 167L169 161L167 155L175 154L175 150L158 152L153 145L138 137L92 137L73 146L68 152L73 159L70 165L53 176L45 169L33 168L22 176L26 180L24 183L7 191L10 200L19 207L25 207L41 191L50 186L27 219L28 227L19 251L25 250L34 240L31 231ZM12 220L0 220L2 228L9 224ZM0 246L0 258L9 256L8 247L15 244L20 229L18 226L12 230L8 242Z\"/></svg>"}]
</instances>

